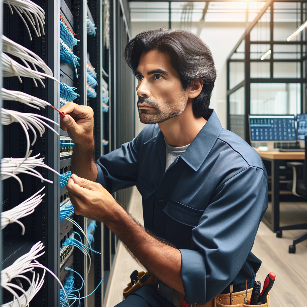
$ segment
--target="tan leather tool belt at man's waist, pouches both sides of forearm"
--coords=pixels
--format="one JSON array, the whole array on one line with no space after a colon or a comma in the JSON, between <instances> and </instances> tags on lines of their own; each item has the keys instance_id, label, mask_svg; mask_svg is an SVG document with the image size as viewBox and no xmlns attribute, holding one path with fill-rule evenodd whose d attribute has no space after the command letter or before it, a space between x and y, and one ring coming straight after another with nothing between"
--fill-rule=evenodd
<instances>
[{"instance_id":1,"label":"tan leather tool belt at man's waist, pouches both sides of forearm","mask_svg":"<svg viewBox=\"0 0 307 307\"><path fill-rule=\"evenodd\" d=\"M122 291L123 296L127 298L130 294L142 286L155 285L157 283L157 278L155 278L151 273L141 271L138 273L138 282L132 286L131 282L127 284L127 287ZM253 288L247 290L247 301L251 299L251 292ZM251 307L251 305L243 304L245 298L245 291L232 293L232 305L230 304L230 293L220 294L205 305L200 305L194 303L194 307ZM181 298L182 300L182 298ZM177 305L177 304L176 304ZM266 303L262 305L257 305L259 307L269 307L270 305L270 295L266 296Z\"/></svg>"}]
</instances>

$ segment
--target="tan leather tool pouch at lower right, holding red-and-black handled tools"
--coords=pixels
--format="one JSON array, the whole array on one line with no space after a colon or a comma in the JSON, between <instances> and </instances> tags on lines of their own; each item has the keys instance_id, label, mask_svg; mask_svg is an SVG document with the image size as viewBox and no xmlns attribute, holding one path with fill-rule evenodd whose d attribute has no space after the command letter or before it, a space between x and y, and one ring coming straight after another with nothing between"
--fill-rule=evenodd
<instances>
[{"instance_id":1,"label":"tan leather tool pouch at lower right, holding red-and-black handled tools","mask_svg":"<svg viewBox=\"0 0 307 307\"><path fill-rule=\"evenodd\" d=\"M251 299L251 292L253 288L247 290L247 301ZM252 305L244 305L245 291L232 293L232 305L230 304L230 293L220 294L213 300L209 301L205 305L194 304L194 307L251 307ZM266 303L261 305L255 305L260 307L269 307L270 295L266 296Z\"/></svg>"}]
</instances>

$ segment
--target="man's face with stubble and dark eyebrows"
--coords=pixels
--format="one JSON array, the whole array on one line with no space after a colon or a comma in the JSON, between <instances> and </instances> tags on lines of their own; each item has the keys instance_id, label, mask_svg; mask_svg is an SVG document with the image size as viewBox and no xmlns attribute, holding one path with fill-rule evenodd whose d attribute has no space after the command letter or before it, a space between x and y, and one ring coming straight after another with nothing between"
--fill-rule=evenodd
<instances>
[{"instance_id":1,"label":"man's face with stubble and dark eyebrows","mask_svg":"<svg viewBox=\"0 0 307 307\"><path fill-rule=\"evenodd\" d=\"M180 115L187 106L188 91L166 53L143 52L135 71L138 79L138 112L143 124L164 122Z\"/></svg>"}]
</instances>

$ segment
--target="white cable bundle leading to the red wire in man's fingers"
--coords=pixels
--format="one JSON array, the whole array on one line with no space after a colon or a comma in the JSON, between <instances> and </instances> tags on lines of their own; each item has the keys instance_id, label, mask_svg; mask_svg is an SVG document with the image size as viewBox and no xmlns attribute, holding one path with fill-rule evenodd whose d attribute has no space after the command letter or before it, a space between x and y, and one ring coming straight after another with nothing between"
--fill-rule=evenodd
<instances>
[{"instance_id":1,"label":"white cable bundle leading to the red wire in man's fingers","mask_svg":"<svg viewBox=\"0 0 307 307\"><path fill-rule=\"evenodd\" d=\"M15 100L26 104L29 107L40 110L41 107L45 109L45 106L51 106L51 104L45 100L31 96L20 91L10 91L5 88L1 88L1 96L3 100ZM38 106L38 107L37 107Z\"/></svg>"}]
</instances>

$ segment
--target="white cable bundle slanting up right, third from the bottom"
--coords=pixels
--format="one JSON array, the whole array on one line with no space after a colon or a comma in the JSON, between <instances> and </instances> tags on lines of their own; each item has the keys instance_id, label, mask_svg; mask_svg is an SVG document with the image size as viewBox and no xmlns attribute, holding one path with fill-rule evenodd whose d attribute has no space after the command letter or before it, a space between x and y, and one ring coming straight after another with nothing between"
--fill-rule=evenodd
<instances>
[{"instance_id":1,"label":"white cable bundle slanting up right, third from the bottom","mask_svg":"<svg viewBox=\"0 0 307 307\"><path fill-rule=\"evenodd\" d=\"M42 198L45 196L45 193L42 194L42 195L41 194L37 195L37 194L40 193L44 188L40 189L38 192L36 192L31 197L29 197L27 200L23 201L18 206L14 207L10 210L1 212L1 227L0 227L0 229L3 229L8 224L16 222L22 228L21 235L24 235L25 234L25 226L24 226L23 223L18 221L18 219L21 219L22 217L28 216L28 215L30 215L31 213L34 212L34 209L42 202Z\"/></svg>"}]
</instances>

